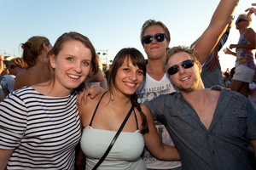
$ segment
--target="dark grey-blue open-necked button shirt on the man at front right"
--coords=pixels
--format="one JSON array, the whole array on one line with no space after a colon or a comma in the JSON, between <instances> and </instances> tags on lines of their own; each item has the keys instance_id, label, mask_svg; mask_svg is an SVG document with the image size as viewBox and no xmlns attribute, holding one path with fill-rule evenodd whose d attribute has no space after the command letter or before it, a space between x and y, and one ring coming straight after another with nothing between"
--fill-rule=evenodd
<instances>
[{"instance_id":1,"label":"dark grey-blue open-necked button shirt on the man at front right","mask_svg":"<svg viewBox=\"0 0 256 170\"><path fill-rule=\"evenodd\" d=\"M256 111L241 94L217 90L221 94L208 130L180 93L144 103L154 119L166 126L183 170L252 169L246 147L250 139L256 139Z\"/></svg>"}]
</instances>

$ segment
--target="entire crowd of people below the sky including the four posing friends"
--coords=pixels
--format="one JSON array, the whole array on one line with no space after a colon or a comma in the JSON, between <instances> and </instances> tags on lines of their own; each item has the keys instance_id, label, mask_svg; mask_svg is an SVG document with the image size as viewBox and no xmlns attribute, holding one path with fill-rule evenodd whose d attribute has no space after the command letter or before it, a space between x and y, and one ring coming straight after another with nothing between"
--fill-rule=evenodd
<instances>
[{"instance_id":1,"label":"entire crowd of people below the sky including the four posing friends","mask_svg":"<svg viewBox=\"0 0 256 170\"><path fill-rule=\"evenodd\" d=\"M222 0L190 47L169 48L166 25L146 20L147 62L123 48L102 70L78 32L30 37L8 65L0 55L0 170L256 168L256 9L235 20L238 2ZM221 71L220 50L234 68Z\"/></svg>"}]
</instances>

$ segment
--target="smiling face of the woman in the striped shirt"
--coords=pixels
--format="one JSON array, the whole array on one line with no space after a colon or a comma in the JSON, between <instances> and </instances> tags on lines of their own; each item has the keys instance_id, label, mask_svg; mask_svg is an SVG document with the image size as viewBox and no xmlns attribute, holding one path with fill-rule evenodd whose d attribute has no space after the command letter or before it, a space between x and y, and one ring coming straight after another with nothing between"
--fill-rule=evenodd
<instances>
[{"instance_id":1,"label":"smiling face of the woman in the striped shirt","mask_svg":"<svg viewBox=\"0 0 256 170\"><path fill-rule=\"evenodd\" d=\"M79 87L90 72L90 48L82 42L70 40L62 44L59 54L50 54L50 65L55 70L55 88L62 93Z\"/></svg>"}]
</instances>

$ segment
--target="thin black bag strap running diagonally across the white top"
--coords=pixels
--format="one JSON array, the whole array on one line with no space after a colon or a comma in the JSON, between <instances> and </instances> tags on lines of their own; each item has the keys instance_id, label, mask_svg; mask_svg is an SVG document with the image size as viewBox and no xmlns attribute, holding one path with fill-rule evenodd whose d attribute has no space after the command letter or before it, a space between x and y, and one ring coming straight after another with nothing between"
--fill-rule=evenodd
<instances>
[{"instance_id":1,"label":"thin black bag strap running diagonally across the white top","mask_svg":"<svg viewBox=\"0 0 256 170\"><path fill-rule=\"evenodd\" d=\"M133 110L133 105L131 105L131 109L128 112L127 116L125 117L124 122L121 124L121 126L119 127L119 131L117 133L115 133L115 136L112 139L112 142L109 144L108 146L108 150L106 150L106 152L104 153L104 155L102 156L101 160L97 162L96 166L93 167L92 170L96 170L97 167L99 167L102 164L102 161L105 160L105 158L108 156L109 151L112 149L113 144L115 143L116 139L119 137L119 134L121 133L121 131L123 130L123 128L125 127L125 123L127 122L128 118L131 116L131 112Z\"/></svg>"}]
</instances>

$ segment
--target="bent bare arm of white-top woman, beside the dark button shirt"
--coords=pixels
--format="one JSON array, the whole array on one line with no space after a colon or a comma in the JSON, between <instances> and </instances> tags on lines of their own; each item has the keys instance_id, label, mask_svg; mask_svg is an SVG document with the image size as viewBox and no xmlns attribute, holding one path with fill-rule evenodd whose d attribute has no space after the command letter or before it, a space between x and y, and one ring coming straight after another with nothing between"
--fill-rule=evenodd
<instances>
[{"instance_id":1,"label":"bent bare arm of white-top woman, beside the dark button shirt","mask_svg":"<svg viewBox=\"0 0 256 170\"><path fill-rule=\"evenodd\" d=\"M160 136L154 127L154 120L146 105L141 105L143 113L147 116L148 133L143 134L144 142L150 153L159 160L177 161L180 157L173 146L162 144Z\"/></svg>"}]
</instances>

